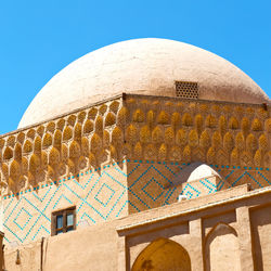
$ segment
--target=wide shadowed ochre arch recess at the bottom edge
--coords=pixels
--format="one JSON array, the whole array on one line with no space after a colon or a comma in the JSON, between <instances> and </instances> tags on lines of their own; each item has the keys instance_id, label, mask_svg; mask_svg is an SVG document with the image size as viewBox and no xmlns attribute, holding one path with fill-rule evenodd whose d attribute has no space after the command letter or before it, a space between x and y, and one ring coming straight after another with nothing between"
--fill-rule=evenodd
<instances>
[{"instance_id":1,"label":"wide shadowed ochre arch recess at the bottom edge","mask_svg":"<svg viewBox=\"0 0 271 271\"><path fill-rule=\"evenodd\" d=\"M134 260L131 271L191 271L188 251L178 243L158 238L144 248Z\"/></svg>"}]
</instances>

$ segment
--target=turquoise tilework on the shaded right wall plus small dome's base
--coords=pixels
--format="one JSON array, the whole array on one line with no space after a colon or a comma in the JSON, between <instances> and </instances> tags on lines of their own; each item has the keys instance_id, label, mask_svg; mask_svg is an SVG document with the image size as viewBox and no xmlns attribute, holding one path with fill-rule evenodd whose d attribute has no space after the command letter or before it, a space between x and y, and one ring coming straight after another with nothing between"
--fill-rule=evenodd
<instances>
[{"instance_id":1,"label":"turquoise tilework on the shaded right wall plus small dome's base","mask_svg":"<svg viewBox=\"0 0 271 271\"><path fill-rule=\"evenodd\" d=\"M129 172L129 214L175 203L180 194L186 195L188 198L195 198L225 189L224 181L220 180L218 183L215 183L209 179L199 180L197 183L184 183L179 186L170 185L177 173L180 175L181 170L188 165L178 163L142 163L141 160L129 163L127 169ZM224 180L231 186L253 182L251 186L258 189L271 184L268 181L268 168L259 171L258 169L246 167L209 166L224 177ZM253 179L250 180L251 177Z\"/></svg>"}]
</instances>

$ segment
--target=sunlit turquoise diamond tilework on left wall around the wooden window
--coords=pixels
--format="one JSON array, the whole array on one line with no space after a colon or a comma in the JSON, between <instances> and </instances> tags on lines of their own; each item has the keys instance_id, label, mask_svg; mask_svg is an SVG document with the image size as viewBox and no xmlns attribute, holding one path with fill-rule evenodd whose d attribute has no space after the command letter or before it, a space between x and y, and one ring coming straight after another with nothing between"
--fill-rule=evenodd
<instances>
[{"instance_id":1,"label":"sunlit turquoise diamond tilework on left wall around the wooden window","mask_svg":"<svg viewBox=\"0 0 271 271\"><path fill-rule=\"evenodd\" d=\"M117 168L117 169L116 169ZM89 224L127 215L126 178L118 166L98 172L85 172L4 201L4 240L28 243L51 232L51 212L76 205L77 223Z\"/></svg>"}]
</instances>

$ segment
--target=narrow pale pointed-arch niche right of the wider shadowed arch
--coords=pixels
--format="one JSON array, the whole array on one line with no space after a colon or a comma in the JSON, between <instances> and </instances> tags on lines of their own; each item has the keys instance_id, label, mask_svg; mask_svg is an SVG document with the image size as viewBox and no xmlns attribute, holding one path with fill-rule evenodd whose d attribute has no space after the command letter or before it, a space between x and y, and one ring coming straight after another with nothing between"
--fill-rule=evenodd
<instances>
[{"instance_id":1,"label":"narrow pale pointed-arch niche right of the wider shadowed arch","mask_svg":"<svg viewBox=\"0 0 271 271\"><path fill-rule=\"evenodd\" d=\"M227 223L216 224L205 240L206 271L241 270L236 231Z\"/></svg>"}]
</instances>

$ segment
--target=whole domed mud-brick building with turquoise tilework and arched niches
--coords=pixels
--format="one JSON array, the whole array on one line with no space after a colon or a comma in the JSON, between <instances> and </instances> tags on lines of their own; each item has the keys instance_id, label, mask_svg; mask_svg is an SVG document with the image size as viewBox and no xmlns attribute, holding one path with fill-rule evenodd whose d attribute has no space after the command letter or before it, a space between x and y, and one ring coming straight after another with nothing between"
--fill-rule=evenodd
<instances>
[{"instance_id":1,"label":"whole domed mud-brick building with turquoise tilework and arched niches","mask_svg":"<svg viewBox=\"0 0 271 271\"><path fill-rule=\"evenodd\" d=\"M164 39L55 75L0 139L5 270L271 270L270 100Z\"/></svg>"}]
</instances>

